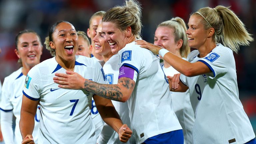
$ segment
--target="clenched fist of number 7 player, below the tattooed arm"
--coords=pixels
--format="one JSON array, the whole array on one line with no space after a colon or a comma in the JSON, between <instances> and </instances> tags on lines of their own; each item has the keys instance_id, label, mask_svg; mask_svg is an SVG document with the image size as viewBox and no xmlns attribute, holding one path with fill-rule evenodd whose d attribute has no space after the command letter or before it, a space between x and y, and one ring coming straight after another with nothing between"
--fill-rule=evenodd
<instances>
[{"instance_id":1,"label":"clenched fist of number 7 player, below the tattooed arm","mask_svg":"<svg viewBox=\"0 0 256 144\"><path fill-rule=\"evenodd\" d=\"M119 135L119 140L124 143L126 143L132 136L132 130L127 126L127 124L123 124L117 132Z\"/></svg>"}]
</instances>

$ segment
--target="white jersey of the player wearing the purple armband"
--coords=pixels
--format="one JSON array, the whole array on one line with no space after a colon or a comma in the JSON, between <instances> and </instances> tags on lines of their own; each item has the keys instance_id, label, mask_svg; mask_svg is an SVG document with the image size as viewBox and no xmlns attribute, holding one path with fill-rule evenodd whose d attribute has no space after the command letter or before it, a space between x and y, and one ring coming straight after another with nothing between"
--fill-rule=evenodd
<instances>
[{"instance_id":1,"label":"white jersey of the player wearing the purple armband","mask_svg":"<svg viewBox=\"0 0 256 144\"><path fill-rule=\"evenodd\" d=\"M171 93L159 58L135 42L118 52L119 67L137 71L134 90L128 100L131 128L136 143L147 138L182 129L172 108Z\"/></svg>"}]
</instances>

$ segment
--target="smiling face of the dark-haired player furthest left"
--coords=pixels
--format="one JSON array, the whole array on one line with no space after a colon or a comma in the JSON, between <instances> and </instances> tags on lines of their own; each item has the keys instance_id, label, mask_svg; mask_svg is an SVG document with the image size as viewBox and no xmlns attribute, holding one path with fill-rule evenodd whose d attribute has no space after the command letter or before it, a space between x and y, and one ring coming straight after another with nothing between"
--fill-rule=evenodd
<instances>
[{"instance_id":1,"label":"smiling face of the dark-haired player furthest left","mask_svg":"<svg viewBox=\"0 0 256 144\"><path fill-rule=\"evenodd\" d=\"M40 63L42 44L35 33L24 33L19 36L15 53L22 60L22 66L33 67Z\"/></svg>"}]
</instances>

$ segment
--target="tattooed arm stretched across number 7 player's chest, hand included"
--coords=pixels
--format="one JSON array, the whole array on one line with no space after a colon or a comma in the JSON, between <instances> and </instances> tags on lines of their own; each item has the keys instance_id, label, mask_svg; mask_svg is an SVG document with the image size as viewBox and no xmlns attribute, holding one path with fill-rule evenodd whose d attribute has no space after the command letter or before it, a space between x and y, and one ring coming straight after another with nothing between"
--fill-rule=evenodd
<instances>
[{"instance_id":1,"label":"tattooed arm stretched across number 7 player's chest, hand included","mask_svg":"<svg viewBox=\"0 0 256 144\"><path fill-rule=\"evenodd\" d=\"M60 88L85 89L101 97L120 102L126 102L130 98L135 86L135 81L126 77L118 79L117 84L108 85L85 79L73 71L66 73L55 73L57 77L53 78Z\"/></svg>"}]
</instances>

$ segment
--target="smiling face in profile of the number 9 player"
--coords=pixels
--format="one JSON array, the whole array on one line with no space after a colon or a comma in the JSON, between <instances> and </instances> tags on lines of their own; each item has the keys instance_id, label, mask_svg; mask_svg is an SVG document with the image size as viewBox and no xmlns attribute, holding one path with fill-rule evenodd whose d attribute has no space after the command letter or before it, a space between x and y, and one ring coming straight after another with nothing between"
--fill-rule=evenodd
<instances>
[{"instance_id":1,"label":"smiling face in profile of the number 9 player","mask_svg":"<svg viewBox=\"0 0 256 144\"><path fill-rule=\"evenodd\" d=\"M189 28L186 31L189 47L198 49L206 42L208 30L204 29L204 25L201 20L202 17L198 15L192 15L189 18Z\"/></svg>"}]
</instances>

